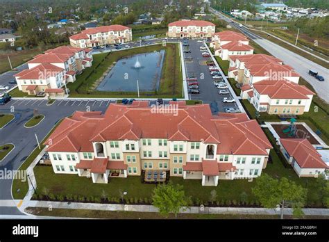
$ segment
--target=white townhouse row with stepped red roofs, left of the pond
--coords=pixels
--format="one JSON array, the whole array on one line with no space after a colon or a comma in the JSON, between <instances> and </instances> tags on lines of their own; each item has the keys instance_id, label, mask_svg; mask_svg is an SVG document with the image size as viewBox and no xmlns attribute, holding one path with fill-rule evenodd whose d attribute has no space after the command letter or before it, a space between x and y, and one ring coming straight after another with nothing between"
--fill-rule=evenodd
<instances>
[{"instance_id":1,"label":"white townhouse row with stepped red roofs, left of the pond","mask_svg":"<svg viewBox=\"0 0 329 242\"><path fill-rule=\"evenodd\" d=\"M49 49L28 61L28 69L15 74L18 89L28 95L65 95L64 86L92 66L91 49L70 46Z\"/></svg>"}]
</instances>

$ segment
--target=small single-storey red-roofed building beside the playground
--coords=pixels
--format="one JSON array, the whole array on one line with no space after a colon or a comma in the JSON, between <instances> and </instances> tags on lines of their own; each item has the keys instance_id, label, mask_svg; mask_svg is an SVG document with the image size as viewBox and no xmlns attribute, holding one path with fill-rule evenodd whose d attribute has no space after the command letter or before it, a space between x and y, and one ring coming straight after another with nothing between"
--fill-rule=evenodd
<instances>
[{"instance_id":1,"label":"small single-storey red-roofed building beside the playground","mask_svg":"<svg viewBox=\"0 0 329 242\"><path fill-rule=\"evenodd\" d=\"M298 177L318 177L329 166L321 159L321 154L306 138L280 138L280 151L292 165Z\"/></svg>"}]
</instances>

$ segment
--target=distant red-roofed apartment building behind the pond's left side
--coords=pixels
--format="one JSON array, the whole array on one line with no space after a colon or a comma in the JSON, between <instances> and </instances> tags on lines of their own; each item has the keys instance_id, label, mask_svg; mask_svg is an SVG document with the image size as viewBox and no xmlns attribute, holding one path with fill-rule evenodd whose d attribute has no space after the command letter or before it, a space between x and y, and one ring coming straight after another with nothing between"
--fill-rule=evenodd
<instances>
[{"instance_id":1,"label":"distant red-roofed apartment building behind the pond's left side","mask_svg":"<svg viewBox=\"0 0 329 242\"><path fill-rule=\"evenodd\" d=\"M131 28L119 24L85 29L69 37L71 46L78 48L125 43L131 40L133 40Z\"/></svg>"}]
</instances>

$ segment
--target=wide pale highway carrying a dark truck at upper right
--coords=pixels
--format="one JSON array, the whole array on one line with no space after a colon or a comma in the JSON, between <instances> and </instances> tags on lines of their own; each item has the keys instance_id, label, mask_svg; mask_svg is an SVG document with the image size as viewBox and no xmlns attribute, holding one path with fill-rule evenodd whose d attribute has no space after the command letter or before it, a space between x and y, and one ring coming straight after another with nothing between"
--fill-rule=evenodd
<instances>
[{"instance_id":1,"label":"wide pale highway carrying a dark truck at upper right","mask_svg":"<svg viewBox=\"0 0 329 242\"><path fill-rule=\"evenodd\" d=\"M293 51L289 51L288 49L280 47L280 45L276 45L270 40L264 39L259 35L252 33L245 26L239 26L237 22L233 22L232 19L229 19L219 12L215 13L214 10L212 10L212 13L219 16L220 19L228 22L230 26L233 26L233 28L244 33L244 35L248 38L251 38L251 40L260 45L260 47L266 49L272 56L280 58L285 64L293 67L294 70L296 70L296 72L300 74L303 79L305 79L305 81L313 86L314 90L317 92L317 95L329 103L329 70L326 67L318 65L317 63L314 63L313 61L310 61L307 58L294 53ZM324 77L325 81L318 81L313 76L310 76L308 74L309 70L318 72L319 75Z\"/></svg>"}]
</instances>

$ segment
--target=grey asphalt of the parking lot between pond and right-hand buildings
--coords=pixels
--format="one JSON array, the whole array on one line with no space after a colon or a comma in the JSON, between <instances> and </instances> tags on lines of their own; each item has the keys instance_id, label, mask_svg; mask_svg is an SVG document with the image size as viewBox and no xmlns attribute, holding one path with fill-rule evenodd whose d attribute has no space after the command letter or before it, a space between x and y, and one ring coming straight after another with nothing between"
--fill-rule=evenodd
<instances>
[{"instance_id":1,"label":"grey asphalt of the parking lot between pond and right-hand buildings","mask_svg":"<svg viewBox=\"0 0 329 242\"><path fill-rule=\"evenodd\" d=\"M183 40L182 40L183 41ZM222 99L224 97L233 97L228 90L229 94L219 95L219 89L214 86L212 75L210 74L209 67L206 61L211 61L210 57L204 58L202 52L207 50L200 50L203 46L202 42L197 42L197 40L188 40L188 47L191 53L184 53L184 57L191 57L192 61L185 61L187 78L189 76L195 76L199 83L199 94L189 94L190 99L200 99L205 104L210 104L210 108L213 113L224 112L224 108L238 108L235 103L223 103ZM184 58L184 59L185 59Z\"/></svg>"}]
</instances>

